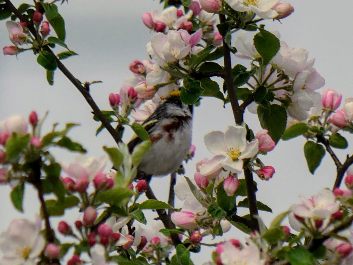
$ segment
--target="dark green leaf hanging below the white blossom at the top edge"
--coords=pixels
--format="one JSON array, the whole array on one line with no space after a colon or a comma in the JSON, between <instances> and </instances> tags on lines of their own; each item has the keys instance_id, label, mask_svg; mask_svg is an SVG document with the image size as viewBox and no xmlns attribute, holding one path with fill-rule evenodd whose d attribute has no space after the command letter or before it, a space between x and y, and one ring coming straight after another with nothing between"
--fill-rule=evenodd
<instances>
[{"instance_id":1,"label":"dark green leaf hanging below the white blossom at the top edge","mask_svg":"<svg viewBox=\"0 0 353 265\"><path fill-rule=\"evenodd\" d=\"M254 36L256 51L262 57L262 65L267 65L280 49L280 40L267 30L259 29Z\"/></svg>"}]
</instances>

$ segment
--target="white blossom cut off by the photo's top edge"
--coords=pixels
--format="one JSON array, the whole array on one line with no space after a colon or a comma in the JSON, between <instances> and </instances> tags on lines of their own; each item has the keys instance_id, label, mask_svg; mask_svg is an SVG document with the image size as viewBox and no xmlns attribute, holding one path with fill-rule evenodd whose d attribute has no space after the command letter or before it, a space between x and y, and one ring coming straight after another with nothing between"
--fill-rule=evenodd
<instances>
[{"instance_id":1,"label":"white blossom cut off by the photo's top edge","mask_svg":"<svg viewBox=\"0 0 353 265\"><path fill-rule=\"evenodd\" d=\"M271 19L278 16L278 13L271 8L279 1L280 0L225 0L225 2L235 11L252 11L264 19Z\"/></svg>"}]
</instances>

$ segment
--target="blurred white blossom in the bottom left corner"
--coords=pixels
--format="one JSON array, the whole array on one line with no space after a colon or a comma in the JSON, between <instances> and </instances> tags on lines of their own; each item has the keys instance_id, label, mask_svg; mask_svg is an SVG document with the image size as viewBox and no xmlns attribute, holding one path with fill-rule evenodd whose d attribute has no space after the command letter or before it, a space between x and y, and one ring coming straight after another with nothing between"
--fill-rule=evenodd
<instances>
[{"instance_id":1,"label":"blurred white blossom in the bottom left corner","mask_svg":"<svg viewBox=\"0 0 353 265\"><path fill-rule=\"evenodd\" d=\"M35 265L46 241L40 234L41 220L36 223L26 219L13 220L0 234L0 249L4 254L1 265Z\"/></svg>"}]
</instances>

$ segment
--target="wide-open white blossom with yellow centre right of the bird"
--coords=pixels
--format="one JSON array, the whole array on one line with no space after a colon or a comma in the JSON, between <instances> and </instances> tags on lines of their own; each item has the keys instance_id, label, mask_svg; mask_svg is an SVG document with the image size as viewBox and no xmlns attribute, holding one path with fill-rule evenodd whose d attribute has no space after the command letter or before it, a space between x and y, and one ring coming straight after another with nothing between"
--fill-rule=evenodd
<instances>
[{"instance_id":1,"label":"wide-open white blossom with yellow centre right of the bird","mask_svg":"<svg viewBox=\"0 0 353 265\"><path fill-rule=\"evenodd\" d=\"M225 170L240 173L243 170L243 159L251 158L258 153L258 141L246 142L246 129L243 126L228 126L225 133L212 131L205 135L207 149L216 156L202 165L200 173L204 176L223 166Z\"/></svg>"}]
</instances>

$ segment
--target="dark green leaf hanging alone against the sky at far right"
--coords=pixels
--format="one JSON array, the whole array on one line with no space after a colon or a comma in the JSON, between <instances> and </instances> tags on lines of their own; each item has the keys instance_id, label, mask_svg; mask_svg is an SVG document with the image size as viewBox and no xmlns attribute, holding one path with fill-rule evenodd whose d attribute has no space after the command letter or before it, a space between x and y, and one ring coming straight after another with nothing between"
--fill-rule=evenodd
<instances>
[{"instance_id":1,"label":"dark green leaf hanging alone against the sky at far right","mask_svg":"<svg viewBox=\"0 0 353 265\"><path fill-rule=\"evenodd\" d=\"M319 143L307 141L304 145L304 155L309 171L314 175L315 170L325 155L325 148Z\"/></svg>"}]
</instances>

